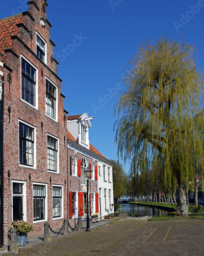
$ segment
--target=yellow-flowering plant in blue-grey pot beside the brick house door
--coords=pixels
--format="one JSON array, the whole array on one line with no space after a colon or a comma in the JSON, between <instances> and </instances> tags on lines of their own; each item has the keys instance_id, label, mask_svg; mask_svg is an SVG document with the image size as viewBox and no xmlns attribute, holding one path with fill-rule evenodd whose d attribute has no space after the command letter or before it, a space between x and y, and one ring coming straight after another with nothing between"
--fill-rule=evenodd
<instances>
[{"instance_id":1,"label":"yellow-flowering plant in blue-grey pot beside the brick house door","mask_svg":"<svg viewBox=\"0 0 204 256\"><path fill-rule=\"evenodd\" d=\"M34 231L33 225L25 221L12 221L11 229L16 229L16 239L18 246L25 246L27 244L27 233Z\"/></svg>"}]
</instances>

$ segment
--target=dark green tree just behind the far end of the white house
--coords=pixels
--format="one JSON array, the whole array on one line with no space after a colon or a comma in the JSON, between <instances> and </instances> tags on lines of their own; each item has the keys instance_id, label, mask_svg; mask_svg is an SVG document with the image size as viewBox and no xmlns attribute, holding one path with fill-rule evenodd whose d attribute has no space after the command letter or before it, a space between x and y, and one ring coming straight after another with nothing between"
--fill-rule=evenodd
<instances>
[{"instance_id":1,"label":"dark green tree just behind the far end of the white house","mask_svg":"<svg viewBox=\"0 0 204 256\"><path fill-rule=\"evenodd\" d=\"M126 177L121 163L110 160L113 165L113 195L115 203L118 202L118 198L125 194L126 189Z\"/></svg>"}]
</instances>

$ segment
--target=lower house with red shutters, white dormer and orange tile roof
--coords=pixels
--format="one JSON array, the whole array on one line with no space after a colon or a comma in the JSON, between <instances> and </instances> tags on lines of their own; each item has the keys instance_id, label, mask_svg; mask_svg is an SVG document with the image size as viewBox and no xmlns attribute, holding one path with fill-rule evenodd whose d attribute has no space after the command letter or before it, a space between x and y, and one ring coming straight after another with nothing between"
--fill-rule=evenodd
<instances>
[{"instance_id":1,"label":"lower house with red shutters, white dormer and orange tile roof","mask_svg":"<svg viewBox=\"0 0 204 256\"><path fill-rule=\"evenodd\" d=\"M92 119L87 113L67 117L70 223L78 216L86 217L83 208L87 204L86 168L92 170L89 182L91 213L100 212L100 216L105 216L113 212L112 166L89 142Z\"/></svg>"}]
</instances>

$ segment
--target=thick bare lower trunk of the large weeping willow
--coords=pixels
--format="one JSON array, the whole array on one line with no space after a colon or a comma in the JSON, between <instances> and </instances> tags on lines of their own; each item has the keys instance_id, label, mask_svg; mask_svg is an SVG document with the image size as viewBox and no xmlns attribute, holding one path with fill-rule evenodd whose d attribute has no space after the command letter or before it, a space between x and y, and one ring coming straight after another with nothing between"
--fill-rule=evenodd
<instances>
[{"instance_id":1,"label":"thick bare lower trunk of the large weeping willow","mask_svg":"<svg viewBox=\"0 0 204 256\"><path fill-rule=\"evenodd\" d=\"M177 216L188 217L188 189L185 185L179 185L176 212Z\"/></svg>"}]
</instances>

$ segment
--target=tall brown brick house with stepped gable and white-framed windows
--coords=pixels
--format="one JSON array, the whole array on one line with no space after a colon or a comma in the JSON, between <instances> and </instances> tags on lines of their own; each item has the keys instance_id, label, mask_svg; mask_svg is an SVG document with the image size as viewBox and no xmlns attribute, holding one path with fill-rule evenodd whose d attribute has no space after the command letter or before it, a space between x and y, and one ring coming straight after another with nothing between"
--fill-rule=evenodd
<instances>
[{"instance_id":1,"label":"tall brown brick house with stepped gable and white-framed windows","mask_svg":"<svg viewBox=\"0 0 204 256\"><path fill-rule=\"evenodd\" d=\"M67 216L67 112L53 58L47 3L28 4L29 11L0 20L5 80L1 187L8 198L8 223L33 223L31 237L43 233L45 221L57 228Z\"/></svg>"}]
</instances>

